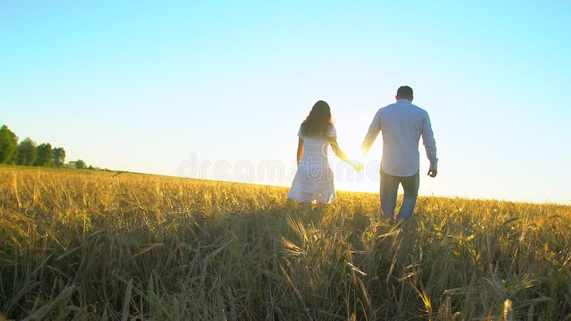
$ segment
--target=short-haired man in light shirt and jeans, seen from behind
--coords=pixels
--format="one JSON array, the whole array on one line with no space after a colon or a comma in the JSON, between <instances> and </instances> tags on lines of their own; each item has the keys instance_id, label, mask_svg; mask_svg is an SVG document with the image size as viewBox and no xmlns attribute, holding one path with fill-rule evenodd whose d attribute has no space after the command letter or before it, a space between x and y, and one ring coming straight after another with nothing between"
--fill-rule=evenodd
<instances>
[{"instance_id":1,"label":"short-haired man in light shirt and jeans, seen from behind","mask_svg":"<svg viewBox=\"0 0 571 321\"><path fill-rule=\"evenodd\" d=\"M380 162L380 208L388 218L394 218L398 185L405 191L403 204L400 205L398 218L410 218L416 205L418 186L420 185L420 156L418 141L423 137L426 156L430 161L428 175L435 177L438 158L436 143L428 113L413 105L413 88L398 88L396 103L380 108L373 122L361 152L367 153L373 145L379 131L383 132L383 158Z\"/></svg>"}]
</instances>

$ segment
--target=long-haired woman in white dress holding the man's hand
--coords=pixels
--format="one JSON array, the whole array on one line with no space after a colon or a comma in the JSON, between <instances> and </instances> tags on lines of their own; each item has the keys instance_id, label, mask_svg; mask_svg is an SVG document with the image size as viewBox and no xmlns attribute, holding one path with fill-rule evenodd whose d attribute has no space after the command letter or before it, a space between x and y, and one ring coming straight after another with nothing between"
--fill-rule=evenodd
<instances>
[{"instance_id":1,"label":"long-haired woman in white dress holding the man's hand","mask_svg":"<svg viewBox=\"0 0 571 321\"><path fill-rule=\"evenodd\" d=\"M293 178L288 198L323 207L335 200L333 171L329 168L327 148L341 160L358 169L337 144L337 131L331 121L331 111L325 101L313 105L298 131L298 170Z\"/></svg>"}]
</instances>

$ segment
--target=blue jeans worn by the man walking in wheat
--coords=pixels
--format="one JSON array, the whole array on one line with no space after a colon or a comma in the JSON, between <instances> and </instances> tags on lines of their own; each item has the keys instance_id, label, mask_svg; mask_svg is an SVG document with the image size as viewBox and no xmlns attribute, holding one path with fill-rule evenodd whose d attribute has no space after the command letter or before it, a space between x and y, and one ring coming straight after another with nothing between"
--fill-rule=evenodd
<instances>
[{"instance_id":1,"label":"blue jeans worn by the man walking in wheat","mask_svg":"<svg viewBox=\"0 0 571 321\"><path fill-rule=\"evenodd\" d=\"M395 208L397 206L398 185L403 184L405 195L403 204L398 210L398 218L410 218L416 206L416 197L418 196L418 186L420 185L420 174L416 172L412 176L393 176L388 175L382 169L380 170L380 208L383 214L393 218Z\"/></svg>"}]
</instances>

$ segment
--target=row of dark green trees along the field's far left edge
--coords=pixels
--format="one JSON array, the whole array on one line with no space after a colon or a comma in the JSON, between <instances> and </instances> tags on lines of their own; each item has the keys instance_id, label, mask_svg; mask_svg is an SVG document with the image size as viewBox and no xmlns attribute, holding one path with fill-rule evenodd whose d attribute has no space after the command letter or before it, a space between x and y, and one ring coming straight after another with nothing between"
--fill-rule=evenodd
<instances>
[{"instance_id":1,"label":"row of dark green trees along the field's far left edge","mask_svg":"<svg viewBox=\"0 0 571 321\"><path fill-rule=\"evenodd\" d=\"M52 148L50 143L37 145L29 137L18 143L18 136L8 126L0 128L0 163L62 167L66 161L66 151L62 147ZM86 168L84 161L77 160L76 168ZM90 166L91 167L91 166Z\"/></svg>"}]
</instances>

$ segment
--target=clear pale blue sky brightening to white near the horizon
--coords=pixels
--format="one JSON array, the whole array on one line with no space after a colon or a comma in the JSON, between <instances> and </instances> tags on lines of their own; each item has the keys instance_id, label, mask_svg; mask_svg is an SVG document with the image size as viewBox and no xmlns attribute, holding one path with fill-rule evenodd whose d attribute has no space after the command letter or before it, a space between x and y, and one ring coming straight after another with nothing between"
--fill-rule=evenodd
<instances>
[{"instance_id":1,"label":"clear pale blue sky brightening to white near the horizon","mask_svg":"<svg viewBox=\"0 0 571 321\"><path fill-rule=\"evenodd\" d=\"M357 157L407 84L440 158L421 194L571 202L570 1L308 2L1 1L0 123L68 161L177 175L196 156L268 183L233 169L290 173L315 101Z\"/></svg>"}]
</instances>

